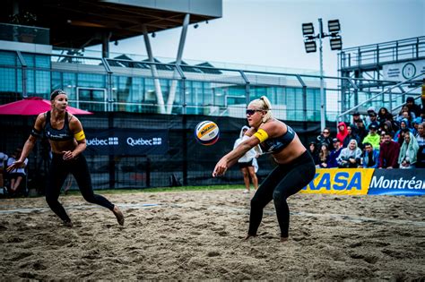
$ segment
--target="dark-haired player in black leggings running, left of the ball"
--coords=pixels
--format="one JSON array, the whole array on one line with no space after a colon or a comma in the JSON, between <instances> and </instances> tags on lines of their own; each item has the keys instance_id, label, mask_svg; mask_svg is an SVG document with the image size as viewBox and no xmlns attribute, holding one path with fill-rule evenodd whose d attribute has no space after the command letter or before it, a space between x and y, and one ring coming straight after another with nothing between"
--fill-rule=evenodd
<instances>
[{"instance_id":1,"label":"dark-haired player in black leggings running, left of the ball","mask_svg":"<svg viewBox=\"0 0 425 282\"><path fill-rule=\"evenodd\" d=\"M82 197L86 201L110 209L117 217L118 224L124 225L124 216L121 210L103 196L93 193L89 167L82 155L82 151L86 148L82 124L78 118L66 111L68 97L65 91L54 90L50 95L50 102L52 109L46 113L39 114L30 137L25 142L21 157L10 167L7 167L7 170L11 171L15 167L22 166L23 160L28 157L30 151L34 148L37 138L44 131L53 152L46 190L46 201L50 209L64 221L65 226L73 226L64 207L57 201L66 176L71 173L74 175L82 192Z\"/></svg>"}]
</instances>

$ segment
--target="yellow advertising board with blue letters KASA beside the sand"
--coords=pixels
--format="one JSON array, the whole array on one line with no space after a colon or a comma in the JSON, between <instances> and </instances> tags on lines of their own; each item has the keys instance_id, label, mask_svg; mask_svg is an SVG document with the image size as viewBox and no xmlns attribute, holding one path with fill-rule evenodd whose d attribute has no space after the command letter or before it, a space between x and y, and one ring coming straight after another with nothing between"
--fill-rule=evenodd
<instances>
[{"instance_id":1,"label":"yellow advertising board with blue letters KASA beside the sand","mask_svg":"<svg viewBox=\"0 0 425 282\"><path fill-rule=\"evenodd\" d=\"M373 168L317 168L315 178L301 192L366 195Z\"/></svg>"}]
</instances>

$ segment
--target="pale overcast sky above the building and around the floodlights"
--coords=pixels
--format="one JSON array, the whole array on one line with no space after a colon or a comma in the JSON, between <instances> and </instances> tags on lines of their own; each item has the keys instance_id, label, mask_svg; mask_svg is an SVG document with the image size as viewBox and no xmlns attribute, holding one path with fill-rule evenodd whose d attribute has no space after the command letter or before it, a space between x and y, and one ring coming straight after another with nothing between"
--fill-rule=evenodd
<instances>
[{"instance_id":1,"label":"pale overcast sky above the building and around the floodlights","mask_svg":"<svg viewBox=\"0 0 425 282\"><path fill-rule=\"evenodd\" d=\"M222 18L191 25L183 60L319 70L319 55L305 52L301 25L339 19L343 47L425 36L425 0L223 0ZM175 59L181 28L151 37L156 57ZM98 47L99 48L99 47ZM325 75L337 75L337 51L323 47ZM111 52L146 55L143 36L110 45Z\"/></svg>"}]
</instances>

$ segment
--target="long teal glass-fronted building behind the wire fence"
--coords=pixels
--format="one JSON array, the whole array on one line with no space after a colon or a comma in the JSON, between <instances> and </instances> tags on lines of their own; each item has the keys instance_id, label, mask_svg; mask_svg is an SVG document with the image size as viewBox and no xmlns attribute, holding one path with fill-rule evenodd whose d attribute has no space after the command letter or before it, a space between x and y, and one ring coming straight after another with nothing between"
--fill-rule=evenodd
<instances>
[{"instance_id":1,"label":"long teal glass-fronted building behind the wire fence","mask_svg":"<svg viewBox=\"0 0 425 282\"><path fill-rule=\"evenodd\" d=\"M48 31L48 30L47 30ZM92 112L245 117L253 98L267 96L278 118L319 121L320 85L315 75L267 73L201 64L163 64L87 56L48 45L3 41L0 47L0 100L48 98L55 89L70 104ZM32 44L31 44L32 45Z\"/></svg>"}]
</instances>

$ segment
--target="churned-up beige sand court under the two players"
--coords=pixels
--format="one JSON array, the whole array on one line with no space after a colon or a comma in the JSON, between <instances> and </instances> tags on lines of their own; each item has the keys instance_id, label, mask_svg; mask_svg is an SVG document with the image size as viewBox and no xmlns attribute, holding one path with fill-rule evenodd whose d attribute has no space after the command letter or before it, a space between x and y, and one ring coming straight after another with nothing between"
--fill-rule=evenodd
<instances>
[{"instance_id":1,"label":"churned-up beige sand court under the two players","mask_svg":"<svg viewBox=\"0 0 425 282\"><path fill-rule=\"evenodd\" d=\"M290 240L273 203L248 241L242 190L107 195L126 215L61 197L0 200L0 279L425 279L425 198L297 194Z\"/></svg>"}]
</instances>

